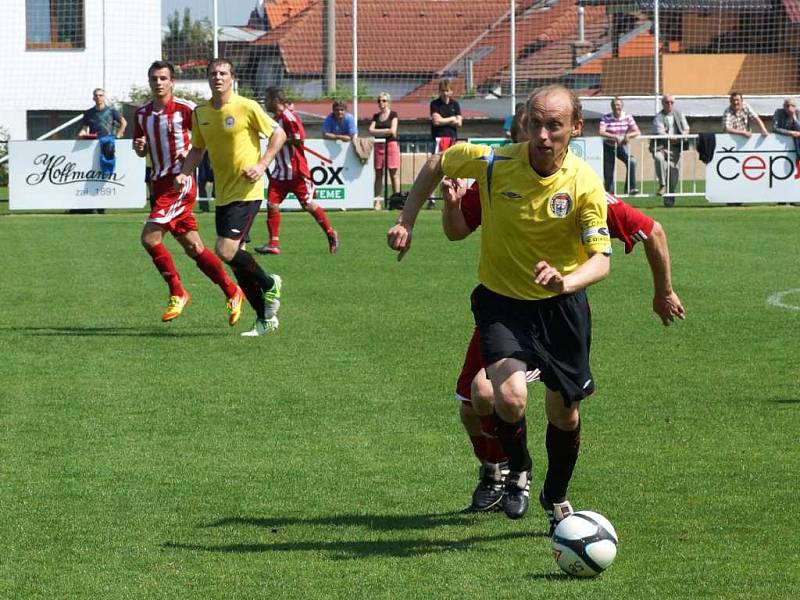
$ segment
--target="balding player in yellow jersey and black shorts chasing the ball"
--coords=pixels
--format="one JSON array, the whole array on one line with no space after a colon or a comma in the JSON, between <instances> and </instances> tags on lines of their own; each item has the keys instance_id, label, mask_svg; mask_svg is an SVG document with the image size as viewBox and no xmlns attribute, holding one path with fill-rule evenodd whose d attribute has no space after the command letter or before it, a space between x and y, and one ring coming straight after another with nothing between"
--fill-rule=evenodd
<instances>
[{"instance_id":1,"label":"balding player in yellow jersey and black shorts chasing the ball","mask_svg":"<svg viewBox=\"0 0 800 600\"><path fill-rule=\"evenodd\" d=\"M531 94L527 113L529 142L459 144L433 155L387 241L398 259L408 252L419 210L443 175L478 182L481 283L472 309L494 388L497 436L509 458L503 510L520 518L528 509L526 371L539 369L548 420L540 501L552 523L572 512L566 493L580 445L580 400L594 391L584 289L608 275L611 241L603 184L569 152L583 128L580 101L564 87L547 86Z\"/></svg>"}]
</instances>

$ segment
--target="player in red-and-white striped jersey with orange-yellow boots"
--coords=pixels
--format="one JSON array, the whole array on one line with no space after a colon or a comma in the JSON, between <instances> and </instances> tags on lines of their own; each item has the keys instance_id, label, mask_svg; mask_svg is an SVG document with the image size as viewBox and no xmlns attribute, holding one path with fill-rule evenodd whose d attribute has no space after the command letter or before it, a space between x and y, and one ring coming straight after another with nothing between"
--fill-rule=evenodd
<instances>
[{"instance_id":1,"label":"player in red-and-white striped jersey with orange-yellow boots","mask_svg":"<svg viewBox=\"0 0 800 600\"><path fill-rule=\"evenodd\" d=\"M161 317L171 321L189 304L189 293L183 288L167 247L164 232L171 233L183 246L198 268L216 283L227 298L228 324L235 325L242 314L244 294L222 266L217 256L203 245L192 213L197 184L186 180L178 191L173 186L175 175L191 148L189 132L194 104L172 95L174 67L167 61L155 61L147 71L152 99L136 111L133 149L152 163L153 203L150 216L142 229L141 241L153 259L158 272L169 286L169 304Z\"/></svg>"}]
</instances>

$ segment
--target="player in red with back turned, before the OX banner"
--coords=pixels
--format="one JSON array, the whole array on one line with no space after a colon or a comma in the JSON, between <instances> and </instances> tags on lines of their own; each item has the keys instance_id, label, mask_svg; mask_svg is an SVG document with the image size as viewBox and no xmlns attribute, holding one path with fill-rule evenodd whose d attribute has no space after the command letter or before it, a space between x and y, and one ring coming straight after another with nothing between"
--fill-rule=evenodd
<instances>
[{"instance_id":1,"label":"player in red with back turned, before the OX banner","mask_svg":"<svg viewBox=\"0 0 800 600\"><path fill-rule=\"evenodd\" d=\"M306 161L303 144L306 131L303 122L289 108L289 100L281 88L267 88L264 93L264 107L275 115L275 120L286 133L286 143L275 157L275 167L269 174L267 196L267 233L269 241L255 250L259 254L280 254L280 205L290 193L297 197L300 206L314 217L328 238L328 249L335 254L339 247L339 237L328 221L325 210L314 201L314 182Z\"/></svg>"}]
</instances>

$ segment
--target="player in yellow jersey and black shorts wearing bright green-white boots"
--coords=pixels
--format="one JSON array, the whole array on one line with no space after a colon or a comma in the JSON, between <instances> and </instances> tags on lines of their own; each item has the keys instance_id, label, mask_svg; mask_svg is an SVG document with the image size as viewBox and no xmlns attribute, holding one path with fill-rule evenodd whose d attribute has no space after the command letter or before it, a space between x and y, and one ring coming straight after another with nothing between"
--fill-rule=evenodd
<instances>
[{"instance_id":1,"label":"player in yellow jersey and black shorts wearing bright green-white boots","mask_svg":"<svg viewBox=\"0 0 800 600\"><path fill-rule=\"evenodd\" d=\"M257 102L233 92L236 73L229 60L212 60L207 74L211 100L194 110L192 149L175 185L185 184L207 150L216 185L215 252L231 266L239 287L256 311L253 329L242 334L254 337L278 328L282 281L279 275L265 273L242 249L241 242L264 198L264 172L286 141L286 134ZM259 135L269 138L263 156Z\"/></svg>"}]
</instances>

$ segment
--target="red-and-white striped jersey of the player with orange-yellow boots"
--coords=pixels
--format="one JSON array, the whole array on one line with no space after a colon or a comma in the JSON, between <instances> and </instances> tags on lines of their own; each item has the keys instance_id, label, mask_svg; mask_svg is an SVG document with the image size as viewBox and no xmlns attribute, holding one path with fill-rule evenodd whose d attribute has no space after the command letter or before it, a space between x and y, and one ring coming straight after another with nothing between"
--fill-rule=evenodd
<instances>
[{"instance_id":1,"label":"red-and-white striped jersey of the player with orange-yellow boots","mask_svg":"<svg viewBox=\"0 0 800 600\"><path fill-rule=\"evenodd\" d=\"M153 180L177 175L181 161L191 149L189 132L192 128L194 103L171 98L161 110L153 108L153 101L136 110L134 137L145 136L150 160L153 163Z\"/></svg>"}]
</instances>

